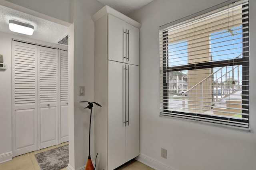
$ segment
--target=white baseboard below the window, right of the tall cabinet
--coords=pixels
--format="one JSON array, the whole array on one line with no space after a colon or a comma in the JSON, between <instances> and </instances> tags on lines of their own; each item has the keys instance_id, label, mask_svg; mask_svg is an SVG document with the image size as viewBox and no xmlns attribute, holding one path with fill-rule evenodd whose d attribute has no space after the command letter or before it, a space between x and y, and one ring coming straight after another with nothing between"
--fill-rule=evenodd
<instances>
[{"instance_id":1,"label":"white baseboard below the window, right of the tall cabinet","mask_svg":"<svg viewBox=\"0 0 256 170\"><path fill-rule=\"evenodd\" d=\"M144 154L139 154L139 156L136 157L136 160L138 160L139 162L141 162L155 170L175 170L174 168L171 168L169 166L161 164L160 162L158 162Z\"/></svg>"}]
</instances>

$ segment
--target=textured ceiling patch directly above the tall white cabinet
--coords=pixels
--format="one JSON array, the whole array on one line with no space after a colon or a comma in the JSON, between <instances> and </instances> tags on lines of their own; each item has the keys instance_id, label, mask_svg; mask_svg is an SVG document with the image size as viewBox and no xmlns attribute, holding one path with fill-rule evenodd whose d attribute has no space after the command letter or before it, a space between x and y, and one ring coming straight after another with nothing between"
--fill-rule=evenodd
<instances>
[{"instance_id":1,"label":"textured ceiling patch directly above the tall white cabinet","mask_svg":"<svg viewBox=\"0 0 256 170\"><path fill-rule=\"evenodd\" d=\"M129 15L132 12L138 10L142 6L152 2L153 0L98 0L104 5L108 5L111 8L125 14Z\"/></svg>"}]
</instances>

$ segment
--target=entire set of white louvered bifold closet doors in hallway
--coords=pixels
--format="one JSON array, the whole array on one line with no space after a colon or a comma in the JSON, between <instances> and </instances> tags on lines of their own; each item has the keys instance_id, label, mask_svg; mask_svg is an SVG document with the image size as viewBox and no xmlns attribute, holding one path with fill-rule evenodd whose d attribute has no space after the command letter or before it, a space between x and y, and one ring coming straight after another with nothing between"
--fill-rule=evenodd
<instances>
[{"instance_id":1,"label":"entire set of white louvered bifold closet doors in hallway","mask_svg":"<svg viewBox=\"0 0 256 170\"><path fill-rule=\"evenodd\" d=\"M68 52L12 41L12 156L68 141Z\"/></svg>"}]
</instances>

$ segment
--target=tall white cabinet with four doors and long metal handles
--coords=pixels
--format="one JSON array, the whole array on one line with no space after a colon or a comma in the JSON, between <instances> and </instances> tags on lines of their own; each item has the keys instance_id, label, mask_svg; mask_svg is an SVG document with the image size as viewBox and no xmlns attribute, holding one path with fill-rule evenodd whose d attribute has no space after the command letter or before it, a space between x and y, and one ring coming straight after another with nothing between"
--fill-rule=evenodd
<instances>
[{"instance_id":1,"label":"tall white cabinet with four doors and long metal handles","mask_svg":"<svg viewBox=\"0 0 256 170\"><path fill-rule=\"evenodd\" d=\"M113 170L139 155L140 23L105 6L95 23L96 169Z\"/></svg>"}]
</instances>

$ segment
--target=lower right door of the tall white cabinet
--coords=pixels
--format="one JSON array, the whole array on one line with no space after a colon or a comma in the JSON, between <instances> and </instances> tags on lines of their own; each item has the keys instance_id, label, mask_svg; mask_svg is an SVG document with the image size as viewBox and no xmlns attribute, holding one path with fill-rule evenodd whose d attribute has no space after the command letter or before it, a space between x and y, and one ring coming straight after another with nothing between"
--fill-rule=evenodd
<instances>
[{"instance_id":1,"label":"lower right door of the tall white cabinet","mask_svg":"<svg viewBox=\"0 0 256 170\"><path fill-rule=\"evenodd\" d=\"M126 162L139 155L139 66L127 64Z\"/></svg>"}]
</instances>

